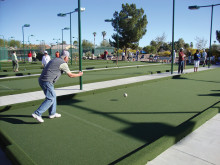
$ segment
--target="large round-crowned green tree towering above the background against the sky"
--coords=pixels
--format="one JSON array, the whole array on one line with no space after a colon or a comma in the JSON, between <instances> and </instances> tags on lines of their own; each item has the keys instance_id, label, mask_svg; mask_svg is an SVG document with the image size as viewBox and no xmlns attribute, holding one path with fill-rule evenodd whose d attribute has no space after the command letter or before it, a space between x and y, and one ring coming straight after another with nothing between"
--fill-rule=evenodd
<instances>
[{"instance_id":1,"label":"large round-crowned green tree towering above the background against the sky","mask_svg":"<svg viewBox=\"0 0 220 165\"><path fill-rule=\"evenodd\" d=\"M132 16L131 19L123 19L126 16ZM146 34L147 29L147 16L144 10L137 9L135 4L129 5L128 3L122 4L120 13L113 14L112 26L119 34L119 48L132 48L136 49L139 40ZM118 22L118 23L117 23ZM118 25L118 27L117 27ZM114 41L110 41L111 45L117 47L117 33L112 35Z\"/></svg>"}]
</instances>

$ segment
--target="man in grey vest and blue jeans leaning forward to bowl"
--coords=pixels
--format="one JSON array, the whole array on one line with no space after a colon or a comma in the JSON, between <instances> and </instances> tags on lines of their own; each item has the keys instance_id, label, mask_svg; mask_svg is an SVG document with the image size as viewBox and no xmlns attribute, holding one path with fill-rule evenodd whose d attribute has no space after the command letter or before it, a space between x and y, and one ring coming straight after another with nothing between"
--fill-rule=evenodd
<instances>
[{"instance_id":1,"label":"man in grey vest and blue jeans leaning forward to bowl","mask_svg":"<svg viewBox=\"0 0 220 165\"><path fill-rule=\"evenodd\" d=\"M41 123L44 122L41 116L46 110L49 111L50 119L61 117L61 114L56 113L57 101L56 93L54 90L54 84L60 78L61 74L66 72L70 78L83 75L83 72L75 74L70 71L67 65L69 58L69 52L63 51L60 58L54 58L46 65L38 79L39 85L46 97L40 107L32 114L32 117Z\"/></svg>"}]
</instances>

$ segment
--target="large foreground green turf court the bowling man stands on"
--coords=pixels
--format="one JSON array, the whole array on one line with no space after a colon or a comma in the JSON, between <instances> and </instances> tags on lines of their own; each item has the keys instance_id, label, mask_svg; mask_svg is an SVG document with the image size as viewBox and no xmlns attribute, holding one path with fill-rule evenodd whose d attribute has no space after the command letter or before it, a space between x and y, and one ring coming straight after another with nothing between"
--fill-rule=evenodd
<instances>
[{"instance_id":1,"label":"large foreground green turf court the bowling man stands on","mask_svg":"<svg viewBox=\"0 0 220 165\"><path fill-rule=\"evenodd\" d=\"M26 154L28 163L147 162L144 152L151 152L148 146L155 143L163 147L165 141L156 142L164 136L176 139L175 143L178 135L170 134L172 130L213 105L219 109L219 72L218 68L75 95L58 101L61 118L48 119L46 112L43 124L31 117L39 102L2 107L1 131L22 151L17 153L21 159ZM123 97L125 92L127 98ZM192 129L196 122L192 122ZM136 153L142 154L132 157Z\"/></svg>"}]
</instances>

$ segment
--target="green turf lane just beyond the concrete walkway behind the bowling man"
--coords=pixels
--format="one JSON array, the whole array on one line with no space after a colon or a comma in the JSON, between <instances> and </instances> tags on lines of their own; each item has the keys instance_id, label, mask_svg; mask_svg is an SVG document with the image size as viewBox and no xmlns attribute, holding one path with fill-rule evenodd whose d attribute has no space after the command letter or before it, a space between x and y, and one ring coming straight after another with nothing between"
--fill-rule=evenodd
<instances>
[{"instance_id":1,"label":"green turf lane just beyond the concrete walkway behind the bowling man","mask_svg":"<svg viewBox=\"0 0 220 165\"><path fill-rule=\"evenodd\" d=\"M188 67L190 68L191 66ZM83 83L86 84L98 81L140 76L151 74L151 72L156 73L156 71L165 72L167 69L170 69L170 65L146 65L142 67L87 71L84 72ZM177 66L175 66L174 69L177 69ZM19 79L0 79L0 96L41 90L38 84L38 77L39 76ZM78 78L71 79L67 75L62 75L55 84L55 88L78 84Z\"/></svg>"}]
</instances>

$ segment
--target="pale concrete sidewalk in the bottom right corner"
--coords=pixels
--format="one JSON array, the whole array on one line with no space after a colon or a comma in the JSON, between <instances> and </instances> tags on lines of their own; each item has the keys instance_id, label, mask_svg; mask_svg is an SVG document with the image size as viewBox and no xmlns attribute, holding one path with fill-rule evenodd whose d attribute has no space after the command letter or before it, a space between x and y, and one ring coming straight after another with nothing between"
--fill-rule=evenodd
<instances>
[{"instance_id":1,"label":"pale concrete sidewalk in the bottom right corner","mask_svg":"<svg viewBox=\"0 0 220 165\"><path fill-rule=\"evenodd\" d=\"M220 165L220 114L147 165Z\"/></svg>"}]
</instances>

